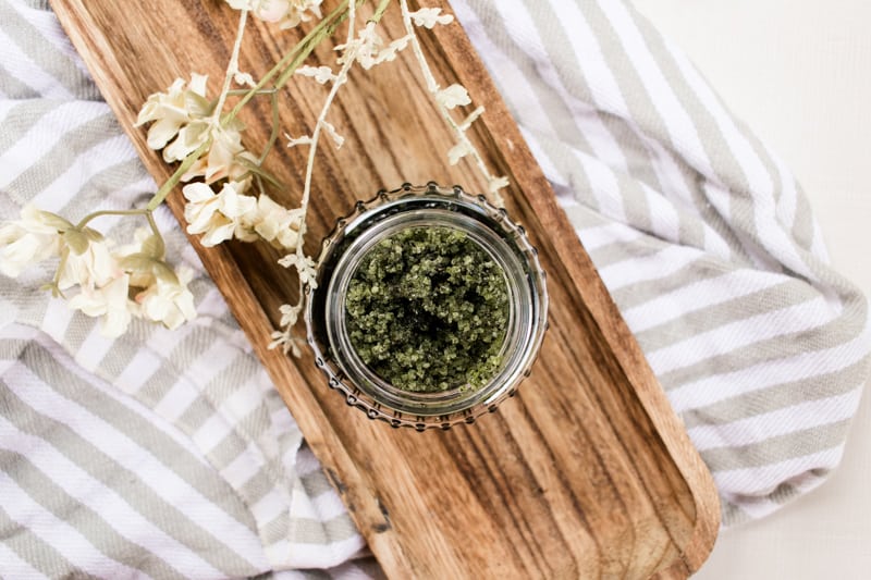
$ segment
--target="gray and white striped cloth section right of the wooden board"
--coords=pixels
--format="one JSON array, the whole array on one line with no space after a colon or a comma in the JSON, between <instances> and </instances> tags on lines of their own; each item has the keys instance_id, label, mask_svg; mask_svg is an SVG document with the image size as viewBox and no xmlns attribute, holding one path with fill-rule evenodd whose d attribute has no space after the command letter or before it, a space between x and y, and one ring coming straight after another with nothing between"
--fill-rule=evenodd
<instances>
[{"instance_id":1,"label":"gray and white striped cloth section right of the wooden board","mask_svg":"<svg viewBox=\"0 0 871 580\"><path fill-rule=\"evenodd\" d=\"M453 5L712 470L724 523L819 484L871 330L793 175L626 3Z\"/></svg>"}]
</instances>

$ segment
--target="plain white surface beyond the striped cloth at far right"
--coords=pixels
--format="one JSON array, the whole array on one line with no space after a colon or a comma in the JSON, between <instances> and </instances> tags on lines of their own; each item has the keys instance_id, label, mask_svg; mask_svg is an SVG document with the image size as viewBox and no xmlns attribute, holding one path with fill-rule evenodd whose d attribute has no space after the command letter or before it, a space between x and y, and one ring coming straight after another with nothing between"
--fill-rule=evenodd
<instances>
[{"instance_id":1,"label":"plain white surface beyond the striped cloth at far right","mask_svg":"<svg viewBox=\"0 0 871 580\"><path fill-rule=\"evenodd\" d=\"M635 4L786 160L835 267L871 296L871 1ZM696 578L871 579L871 394L830 480L723 532Z\"/></svg>"}]
</instances>

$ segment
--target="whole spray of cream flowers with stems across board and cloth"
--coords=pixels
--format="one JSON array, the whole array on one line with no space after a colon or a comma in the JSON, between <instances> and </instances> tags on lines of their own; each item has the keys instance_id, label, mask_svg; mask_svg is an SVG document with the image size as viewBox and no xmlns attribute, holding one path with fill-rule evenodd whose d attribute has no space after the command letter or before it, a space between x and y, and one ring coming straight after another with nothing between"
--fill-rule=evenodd
<instances>
[{"instance_id":1,"label":"whole spray of cream flowers with stems across board and cloth","mask_svg":"<svg viewBox=\"0 0 871 580\"><path fill-rule=\"evenodd\" d=\"M226 239L253 242L262 239L287 251L279 263L293 268L298 274L299 300L281 308L281 330L273 334L272 346L299 353L299 340L292 328L303 309L305 289L315 287L315 261L303 249L306 215L311 202L311 181L321 135L336 147L344 138L327 119L335 97L351 69L368 70L395 59L407 47L413 48L428 91L446 124L453 129L456 144L447 151L449 161L457 163L470 157L488 182L491 199L501 205L499 189L507 185L505 177L490 173L482 157L466 132L482 114L477 107L462 121L452 111L466 107L471 99L465 87L453 84L441 88L424 55L415 27L433 28L453 22L438 8L409 11L407 1L400 0L405 35L384 42L377 25L392 0L380 0L372 16L356 28L356 9L366 0L341 0L339 5L320 20L312 29L290 49L259 81L238 67L240 53L248 16L279 23L281 27L320 17L321 0L225 0L240 10L236 37L218 97L207 97L208 79L193 74L189 82L176 79L165 92L150 96L139 113L138 124L150 123L148 145L163 150L168 162L179 162L173 174L160 186L145 209L98 211L72 224L63 218L34 208L25 208L22 220L0 229L0 270L17 275L24 262L59 258L54 279L48 285L56 295L77 288L70 306L89 316L101 317L107 335L123 332L133 318L146 318L175 328L194 318L193 295L187 289L192 279L188 270L173 270L165 262L165 248L154 221L152 211L180 183L187 201L187 231L200 235L206 246ZM344 44L336 47L339 69L304 66L303 63L322 40L332 36L338 26L348 21ZM280 134L278 95L294 74L309 76L330 87L310 135L287 136L287 146L309 146L305 181L298 208L286 209L269 195L269 185L281 187L279 181L262 164ZM232 89L233 83L244 89ZM240 97L230 111L224 111L230 96ZM242 145L244 125L237 115L257 96L268 96L272 113L272 132L259 153ZM256 186L258 194L247 192ZM116 248L111 240L87 224L105 214L140 214L146 217L150 232L137 233L136 243Z\"/></svg>"}]
</instances>

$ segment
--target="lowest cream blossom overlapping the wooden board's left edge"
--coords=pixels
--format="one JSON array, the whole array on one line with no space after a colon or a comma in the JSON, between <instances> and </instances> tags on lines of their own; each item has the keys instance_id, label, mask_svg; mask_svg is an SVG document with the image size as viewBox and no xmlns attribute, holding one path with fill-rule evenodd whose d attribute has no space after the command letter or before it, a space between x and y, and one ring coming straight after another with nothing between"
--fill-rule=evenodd
<instances>
[{"instance_id":1,"label":"lowest cream blossom overlapping the wooden board's left edge","mask_svg":"<svg viewBox=\"0 0 871 580\"><path fill-rule=\"evenodd\" d=\"M200 242L210 247L233 237L250 238L245 218L257 207L257 200L242 195L236 182L225 183L220 193L205 183L192 183L182 189L187 205L184 219L188 234L203 234Z\"/></svg>"}]
</instances>

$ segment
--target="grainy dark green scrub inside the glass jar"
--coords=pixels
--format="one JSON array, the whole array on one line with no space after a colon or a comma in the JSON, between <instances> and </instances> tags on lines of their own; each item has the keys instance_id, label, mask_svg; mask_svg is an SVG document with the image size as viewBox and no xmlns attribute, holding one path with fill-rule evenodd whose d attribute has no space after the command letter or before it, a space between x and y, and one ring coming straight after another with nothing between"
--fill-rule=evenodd
<instances>
[{"instance_id":1,"label":"grainy dark green scrub inside the glass jar","mask_svg":"<svg viewBox=\"0 0 871 580\"><path fill-rule=\"evenodd\" d=\"M363 258L345 312L357 355L393 386L480 388L501 362L508 292L500 266L465 233L412 226Z\"/></svg>"}]
</instances>

